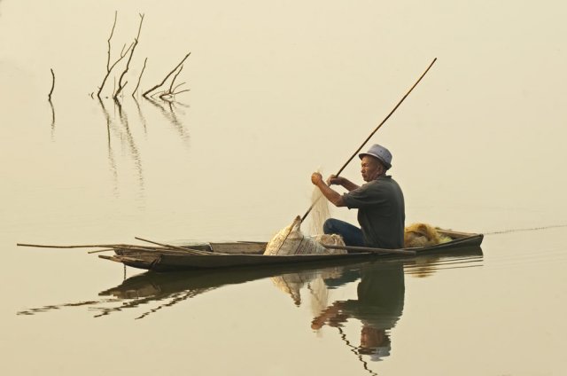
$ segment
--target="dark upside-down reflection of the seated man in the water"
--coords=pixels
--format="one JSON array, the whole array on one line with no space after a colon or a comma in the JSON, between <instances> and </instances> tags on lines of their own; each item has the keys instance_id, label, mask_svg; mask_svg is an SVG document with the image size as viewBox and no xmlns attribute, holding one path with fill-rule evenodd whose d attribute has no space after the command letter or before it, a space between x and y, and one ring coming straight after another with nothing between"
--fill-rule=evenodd
<instances>
[{"instance_id":1,"label":"dark upside-down reflection of the seated man in the water","mask_svg":"<svg viewBox=\"0 0 567 376\"><path fill-rule=\"evenodd\" d=\"M390 335L401 317L404 307L405 285L401 263L372 265L361 270L361 282L357 286L358 300L334 302L322 310L311 323L313 329L323 325L339 327L349 318L361 321L360 354L389 356Z\"/></svg>"}]
</instances>

